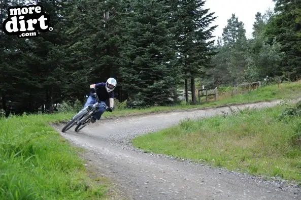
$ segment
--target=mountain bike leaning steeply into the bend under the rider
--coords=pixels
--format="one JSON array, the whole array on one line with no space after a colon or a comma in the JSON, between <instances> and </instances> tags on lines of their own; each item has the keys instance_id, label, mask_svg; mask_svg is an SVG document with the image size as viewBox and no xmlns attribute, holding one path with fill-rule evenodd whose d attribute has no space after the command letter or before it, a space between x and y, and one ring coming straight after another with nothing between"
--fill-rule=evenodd
<instances>
[{"instance_id":1,"label":"mountain bike leaning steeply into the bend under the rider","mask_svg":"<svg viewBox=\"0 0 301 200\"><path fill-rule=\"evenodd\" d=\"M75 116L73 116L69 122L61 129L62 132L65 132L72 128L74 125L75 131L78 132L79 130L83 129L91 120L92 115L97 112L98 108L103 106L106 111L108 111L109 107L104 102L100 102L99 98L96 94L96 90L92 88L93 94L92 96L96 98L96 103L93 105L86 106L82 110L80 110Z\"/></svg>"}]
</instances>

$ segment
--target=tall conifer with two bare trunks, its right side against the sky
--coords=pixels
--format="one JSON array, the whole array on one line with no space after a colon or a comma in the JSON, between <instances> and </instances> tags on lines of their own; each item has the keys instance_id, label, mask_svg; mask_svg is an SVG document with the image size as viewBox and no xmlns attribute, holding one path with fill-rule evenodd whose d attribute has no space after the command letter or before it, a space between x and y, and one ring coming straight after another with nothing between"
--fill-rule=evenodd
<instances>
[{"instance_id":1,"label":"tall conifer with two bare trunks, its right side against the sky","mask_svg":"<svg viewBox=\"0 0 301 200\"><path fill-rule=\"evenodd\" d=\"M210 26L214 13L210 9L204 9L205 1L179 1L177 20L179 33L177 44L179 45L180 63L183 65L185 80L186 102L188 102L188 80L191 81L191 90L194 91L194 79L204 75L206 68L210 67L211 57L215 55L211 46L214 41L212 31L217 26ZM192 102L196 102L195 93L192 92Z\"/></svg>"}]
</instances>

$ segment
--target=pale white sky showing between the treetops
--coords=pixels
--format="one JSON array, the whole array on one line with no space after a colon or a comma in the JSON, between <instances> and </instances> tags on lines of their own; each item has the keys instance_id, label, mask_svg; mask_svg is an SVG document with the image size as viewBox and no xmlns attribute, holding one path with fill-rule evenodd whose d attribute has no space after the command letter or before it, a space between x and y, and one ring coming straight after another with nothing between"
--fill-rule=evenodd
<instances>
[{"instance_id":1,"label":"pale white sky showing between the treetops","mask_svg":"<svg viewBox=\"0 0 301 200\"><path fill-rule=\"evenodd\" d=\"M232 13L242 21L246 29L246 37L251 38L255 14L260 12L264 14L267 9L274 9L272 0L207 0L205 8L209 8L209 12L215 12L218 18L211 25L218 25L213 32L215 40L222 35L223 28L227 25L227 20L231 18Z\"/></svg>"}]
</instances>

